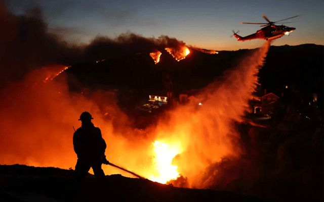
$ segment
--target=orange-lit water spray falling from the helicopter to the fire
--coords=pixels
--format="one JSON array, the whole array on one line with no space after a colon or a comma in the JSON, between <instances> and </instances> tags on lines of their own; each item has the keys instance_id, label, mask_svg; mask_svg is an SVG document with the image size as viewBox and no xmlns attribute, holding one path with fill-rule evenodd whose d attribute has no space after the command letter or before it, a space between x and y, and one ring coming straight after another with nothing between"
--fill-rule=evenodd
<instances>
[{"instance_id":1,"label":"orange-lit water spray falling from the helicopter to the fire","mask_svg":"<svg viewBox=\"0 0 324 202\"><path fill-rule=\"evenodd\" d=\"M235 123L241 123L249 111L248 102L269 46L267 41L225 72L222 80L209 84L188 105L169 112L168 119L157 125L156 139L179 148L172 163L189 187L207 188L217 183L217 170L211 172L210 166L242 154Z\"/></svg>"}]
</instances>

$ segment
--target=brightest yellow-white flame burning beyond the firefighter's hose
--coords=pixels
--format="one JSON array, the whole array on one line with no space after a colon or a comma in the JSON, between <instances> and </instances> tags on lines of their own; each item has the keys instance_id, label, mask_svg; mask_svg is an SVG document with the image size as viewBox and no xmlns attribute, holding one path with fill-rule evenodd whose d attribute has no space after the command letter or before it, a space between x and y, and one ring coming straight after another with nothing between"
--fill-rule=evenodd
<instances>
[{"instance_id":1,"label":"brightest yellow-white flame burning beyond the firefighter's hose","mask_svg":"<svg viewBox=\"0 0 324 202\"><path fill-rule=\"evenodd\" d=\"M179 176L177 172L178 167L172 165L171 162L180 153L179 147L170 146L160 141L154 141L153 144L155 153L154 163L159 176L150 176L150 180L165 184L171 179L176 179Z\"/></svg>"}]
</instances>

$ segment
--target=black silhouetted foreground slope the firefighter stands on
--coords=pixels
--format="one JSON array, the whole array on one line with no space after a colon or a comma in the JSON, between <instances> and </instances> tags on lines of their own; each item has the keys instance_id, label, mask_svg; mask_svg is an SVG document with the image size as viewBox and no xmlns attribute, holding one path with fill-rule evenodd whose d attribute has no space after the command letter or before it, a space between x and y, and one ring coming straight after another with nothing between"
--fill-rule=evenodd
<instances>
[{"instance_id":1,"label":"black silhouetted foreground slope the firefighter stands on","mask_svg":"<svg viewBox=\"0 0 324 202\"><path fill-rule=\"evenodd\" d=\"M177 188L149 180L89 175L78 192L73 170L24 165L0 166L1 201L260 201L259 198L207 189Z\"/></svg>"}]
</instances>

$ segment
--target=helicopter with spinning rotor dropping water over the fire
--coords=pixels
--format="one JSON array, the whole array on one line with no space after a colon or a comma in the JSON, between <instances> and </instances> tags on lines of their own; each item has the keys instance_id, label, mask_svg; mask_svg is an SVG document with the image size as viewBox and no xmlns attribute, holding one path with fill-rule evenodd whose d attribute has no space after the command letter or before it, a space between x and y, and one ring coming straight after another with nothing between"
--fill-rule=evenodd
<instances>
[{"instance_id":1,"label":"helicopter with spinning rotor dropping water over the fire","mask_svg":"<svg viewBox=\"0 0 324 202\"><path fill-rule=\"evenodd\" d=\"M301 15L298 15L301 16ZM288 20L288 19L292 19L292 18L296 18L298 16L293 16L284 20ZM258 30L256 33L242 37L237 35L237 32L234 32L233 30L233 35L235 38L237 38L238 41L246 41L246 40L252 40L252 39L265 39L265 40L272 40L272 39L276 39L276 38L280 38L281 36L284 36L285 34L289 36L289 33L294 31L296 28L294 27L287 27L285 25L283 25L284 23L282 23L281 25L275 25L274 23L277 22L281 22L284 20L279 20L276 22L271 22L265 15L262 16L268 23L254 23L254 22L240 22L240 24L258 24L260 25L259 27L264 27L260 30ZM290 22L286 22L286 23L290 23Z\"/></svg>"}]
</instances>

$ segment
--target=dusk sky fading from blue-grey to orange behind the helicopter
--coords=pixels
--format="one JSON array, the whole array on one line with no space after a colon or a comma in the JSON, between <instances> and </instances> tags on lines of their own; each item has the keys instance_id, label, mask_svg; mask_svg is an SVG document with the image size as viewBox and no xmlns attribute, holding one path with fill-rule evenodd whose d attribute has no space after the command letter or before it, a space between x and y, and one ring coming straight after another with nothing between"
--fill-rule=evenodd
<instances>
[{"instance_id":1,"label":"dusk sky fading from blue-grey to orange behind the helicopter","mask_svg":"<svg viewBox=\"0 0 324 202\"><path fill-rule=\"evenodd\" d=\"M188 45L216 50L255 48L264 40L237 41L232 30L246 36L260 29L239 22L278 21L295 27L272 45L324 45L324 1L6 1L9 12L22 15L40 8L49 31L74 43L89 43L97 35L111 38L133 32L145 37L168 35ZM281 25L281 24L280 24Z\"/></svg>"}]
</instances>

